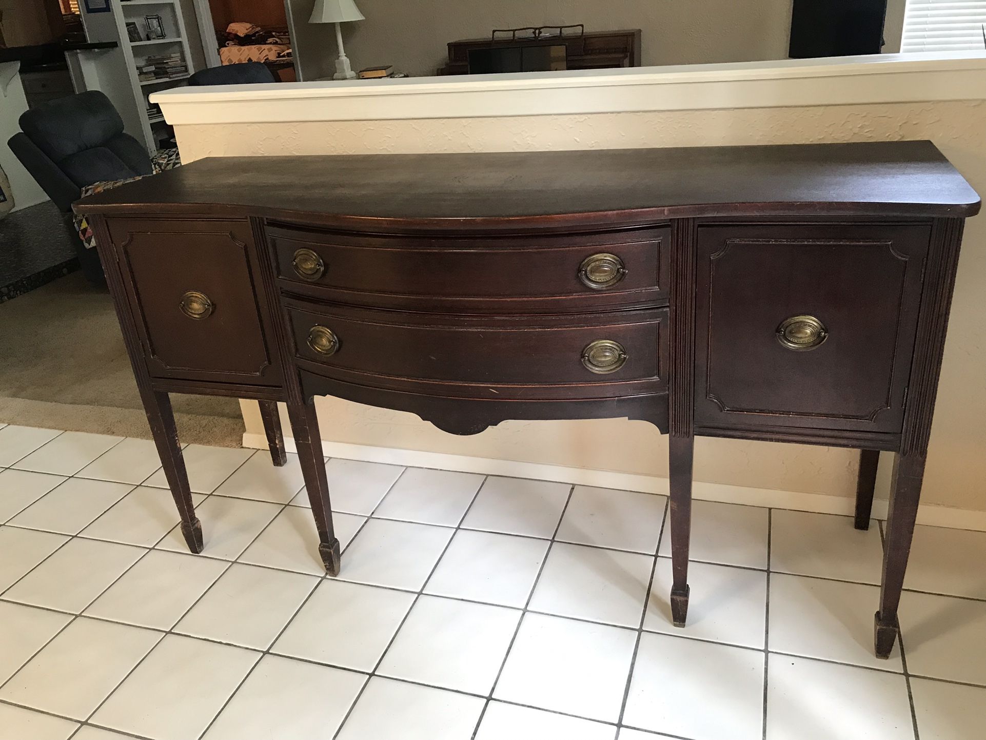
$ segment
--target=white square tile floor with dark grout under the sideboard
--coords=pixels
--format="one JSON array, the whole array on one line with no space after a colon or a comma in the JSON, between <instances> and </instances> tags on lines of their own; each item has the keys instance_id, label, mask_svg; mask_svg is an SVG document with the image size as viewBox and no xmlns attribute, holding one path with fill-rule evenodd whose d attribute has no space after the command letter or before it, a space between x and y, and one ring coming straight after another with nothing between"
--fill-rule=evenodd
<instances>
[{"instance_id":1,"label":"white square tile floor with dark grout under the sideboard","mask_svg":"<svg viewBox=\"0 0 986 740\"><path fill-rule=\"evenodd\" d=\"M873 656L881 528L696 502L671 627L662 496L0 424L0 740L971 740L986 533L919 527ZM290 502L290 503L288 503Z\"/></svg>"}]
</instances>

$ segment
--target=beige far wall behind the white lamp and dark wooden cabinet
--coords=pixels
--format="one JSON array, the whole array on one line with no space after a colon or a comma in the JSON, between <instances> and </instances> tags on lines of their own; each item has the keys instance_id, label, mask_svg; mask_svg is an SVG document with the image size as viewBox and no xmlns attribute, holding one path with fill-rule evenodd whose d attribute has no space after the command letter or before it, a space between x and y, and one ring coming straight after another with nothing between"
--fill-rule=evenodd
<instances>
[{"instance_id":1,"label":"beige far wall behind the white lamp and dark wooden cabinet","mask_svg":"<svg viewBox=\"0 0 986 740\"><path fill-rule=\"evenodd\" d=\"M307 2L311 14L314 0L292 0L299 2ZM358 5L366 20L343 27L353 69L393 64L415 77L435 74L448 57L449 41L488 37L493 29L579 23L587 31L641 29L643 64L652 66L785 59L791 28L791 0L360 0ZM324 50L334 56L331 29L324 32ZM319 52L311 44L297 50L301 59Z\"/></svg>"}]
</instances>

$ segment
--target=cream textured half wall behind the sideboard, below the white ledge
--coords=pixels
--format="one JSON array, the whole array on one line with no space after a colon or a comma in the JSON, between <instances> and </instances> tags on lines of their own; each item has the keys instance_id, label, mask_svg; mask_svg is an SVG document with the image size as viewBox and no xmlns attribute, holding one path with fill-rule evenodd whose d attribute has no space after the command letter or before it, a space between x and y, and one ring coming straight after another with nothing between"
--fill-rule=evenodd
<instances>
[{"instance_id":1,"label":"cream textured half wall behind the sideboard, below the white ledge","mask_svg":"<svg viewBox=\"0 0 986 740\"><path fill-rule=\"evenodd\" d=\"M986 192L986 104L179 126L182 158L366 152L526 151L930 138ZM986 510L986 217L971 219L959 264L924 501ZM621 419L505 422L474 437L402 412L319 399L327 440L644 475L667 475L667 440ZM259 420L247 416L247 431ZM854 452L699 439L695 478L851 495Z\"/></svg>"}]
</instances>

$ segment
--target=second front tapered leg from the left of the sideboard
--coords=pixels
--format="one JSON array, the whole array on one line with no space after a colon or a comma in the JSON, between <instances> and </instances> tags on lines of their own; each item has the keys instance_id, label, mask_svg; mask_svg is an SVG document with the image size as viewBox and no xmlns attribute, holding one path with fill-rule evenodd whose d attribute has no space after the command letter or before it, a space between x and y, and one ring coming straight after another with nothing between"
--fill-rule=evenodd
<instances>
[{"instance_id":1,"label":"second front tapered leg from the left of the sideboard","mask_svg":"<svg viewBox=\"0 0 986 740\"><path fill-rule=\"evenodd\" d=\"M318 433L318 418L315 401L296 405L288 402L288 417L295 434L298 459L302 466L305 485L308 486L309 501L318 530L318 554L329 575L339 574L339 541L332 527L332 504L328 500L328 481L325 478L325 463L321 457L321 435Z\"/></svg>"}]
</instances>

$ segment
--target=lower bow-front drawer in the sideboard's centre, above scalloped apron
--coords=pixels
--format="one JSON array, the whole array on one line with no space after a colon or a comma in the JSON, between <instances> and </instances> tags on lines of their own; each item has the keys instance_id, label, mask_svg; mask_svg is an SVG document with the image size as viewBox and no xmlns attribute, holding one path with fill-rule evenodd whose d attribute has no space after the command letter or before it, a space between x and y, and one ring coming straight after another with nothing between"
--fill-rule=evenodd
<instances>
[{"instance_id":1,"label":"lower bow-front drawer in the sideboard's centre, above scalloped apron","mask_svg":"<svg viewBox=\"0 0 986 740\"><path fill-rule=\"evenodd\" d=\"M475 317L301 301L287 306L299 358L347 377L364 375L367 384L378 377L381 383L667 387L668 309Z\"/></svg>"}]
</instances>

